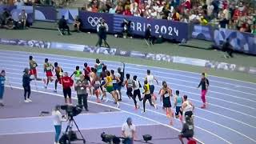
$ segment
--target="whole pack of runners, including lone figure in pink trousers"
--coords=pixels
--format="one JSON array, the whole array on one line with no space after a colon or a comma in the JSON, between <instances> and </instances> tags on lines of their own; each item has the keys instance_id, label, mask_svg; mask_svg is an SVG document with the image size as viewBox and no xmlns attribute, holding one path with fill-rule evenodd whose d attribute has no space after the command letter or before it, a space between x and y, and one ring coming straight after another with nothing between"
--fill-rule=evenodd
<instances>
[{"instance_id":1,"label":"whole pack of runners, including lone figure in pink trousers","mask_svg":"<svg viewBox=\"0 0 256 144\"><path fill-rule=\"evenodd\" d=\"M38 64L34 61L33 57L30 56L30 74L34 75L34 78L38 81L42 80L37 76L36 67ZM62 67L58 66L58 62L54 63L54 66L51 65L48 58L45 59L44 64L44 72L46 73L46 79L43 79L47 88L49 82L53 82L53 71L55 71L55 90L57 92L57 85L58 83L63 83L63 70ZM67 76L67 74L65 74ZM106 102L108 98L106 94L111 94L112 98L114 98L114 103L119 107L119 102L122 101L122 87L126 87L126 95L128 98L133 99L134 101L134 108L138 110L140 108L139 102L143 103L143 110L142 113L146 112L146 101L150 102L150 106L153 106L155 109L158 109L157 106L157 96L154 94L154 82L158 84L157 78L151 74L150 70L146 71L146 77L143 82L143 86L138 81L137 75L133 77L130 74L125 75L125 64L123 63L122 69L118 67L117 71L115 70L108 70L107 66L101 62L98 58L96 59L94 67L88 66L87 63L84 63L83 72L80 70L79 66L75 67L74 73L70 75L70 78L74 76L74 84L80 79L80 76L84 75L84 78L90 82L90 86L86 87L91 95L96 96L96 101L101 102L103 98L106 98ZM126 78L125 78L126 76ZM70 83L72 86L73 83ZM206 91L209 86L209 81L206 78L206 74L202 73L202 79L198 85L202 86L202 102L203 106L201 108L206 108ZM141 93L140 89L143 89ZM71 89L70 89L71 90ZM64 92L64 90L63 90ZM143 94L143 97L142 97ZM65 102L66 95L71 98L71 92L69 91L67 94L64 93ZM175 109L175 117L180 118L183 122L186 116L192 118L194 106L193 104L188 101L187 96L184 95L183 97L180 96L179 90L175 91L173 94L173 90L168 86L167 82L162 82L162 88L159 90L158 95L160 95L160 101L162 102L162 109L166 110L167 118L170 118L170 125L173 125L174 119L174 112L171 106L171 97L174 97L174 109ZM137 101L138 97L138 101ZM70 101L71 102L71 101Z\"/></svg>"}]
</instances>

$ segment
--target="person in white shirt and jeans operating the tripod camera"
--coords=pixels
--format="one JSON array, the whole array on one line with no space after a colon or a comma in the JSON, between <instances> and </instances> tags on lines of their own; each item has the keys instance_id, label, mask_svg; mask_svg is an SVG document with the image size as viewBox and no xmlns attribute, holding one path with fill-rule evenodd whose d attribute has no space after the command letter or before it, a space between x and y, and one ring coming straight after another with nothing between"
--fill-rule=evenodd
<instances>
[{"instance_id":1,"label":"person in white shirt and jeans operating the tripod camera","mask_svg":"<svg viewBox=\"0 0 256 144\"><path fill-rule=\"evenodd\" d=\"M62 113L60 112L61 106L55 106L52 111L52 116L54 118L54 127L55 127L55 141L54 144L59 144L58 140L62 132L62 122L66 122L67 118L62 118Z\"/></svg>"}]
</instances>

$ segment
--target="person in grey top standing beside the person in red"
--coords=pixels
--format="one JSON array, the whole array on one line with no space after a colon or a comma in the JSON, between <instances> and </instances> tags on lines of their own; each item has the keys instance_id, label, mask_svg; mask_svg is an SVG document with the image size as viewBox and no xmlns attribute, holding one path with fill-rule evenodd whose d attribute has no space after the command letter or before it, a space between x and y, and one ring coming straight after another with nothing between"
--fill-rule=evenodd
<instances>
[{"instance_id":1,"label":"person in grey top standing beside the person in red","mask_svg":"<svg viewBox=\"0 0 256 144\"><path fill-rule=\"evenodd\" d=\"M90 87L88 80L85 78L84 75L80 75L80 79L75 85L75 89L77 90L78 94L78 106L85 107L86 111L88 110L88 105L87 105L87 98L88 98L88 93L87 93L87 87Z\"/></svg>"}]
</instances>

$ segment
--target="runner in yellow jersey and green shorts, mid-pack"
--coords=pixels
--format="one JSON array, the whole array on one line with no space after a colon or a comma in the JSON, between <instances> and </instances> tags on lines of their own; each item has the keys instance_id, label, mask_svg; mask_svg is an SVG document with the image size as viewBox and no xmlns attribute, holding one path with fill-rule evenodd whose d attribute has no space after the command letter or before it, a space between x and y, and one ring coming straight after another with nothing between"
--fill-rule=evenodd
<instances>
[{"instance_id":1,"label":"runner in yellow jersey and green shorts, mid-pack","mask_svg":"<svg viewBox=\"0 0 256 144\"><path fill-rule=\"evenodd\" d=\"M111 78L111 74L110 71L106 72L106 78L105 78L105 87L106 87L106 91L109 92L112 97L114 98L118 108L119 108L119 102L118 102L118 97L117 94L114 92L114 88L113 88L113 80Z\"/></svg>"}]
</instances>

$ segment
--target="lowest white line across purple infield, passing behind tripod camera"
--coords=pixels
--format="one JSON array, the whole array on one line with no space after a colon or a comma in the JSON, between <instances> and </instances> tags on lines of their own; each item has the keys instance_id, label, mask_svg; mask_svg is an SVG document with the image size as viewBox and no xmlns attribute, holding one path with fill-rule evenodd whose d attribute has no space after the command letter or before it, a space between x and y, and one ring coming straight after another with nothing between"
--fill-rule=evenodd
<instances>
[{"instance_id":1,"label":"lowest white line across purple infield, passing behind tripod camera","mask_svg":"<svg viewBox=\"0 0 256 144\"><path fill-rule=\"evenodd\" d=\"M139 124L136 126L162 126L159 124ZM88 128L82 128L80 130L99 130L99 129L113 129L113 128L122 128L122 126L98 126L98 127L88 127ZM75 128L76 130L76 128ZM37 130L37 131L29 131L29 132L14 132L14 133L0 133L0 136L5 135L14 135L14 134L42 134L42 133L54 133L54 130Z\"/></svg>"}]
</instances>

